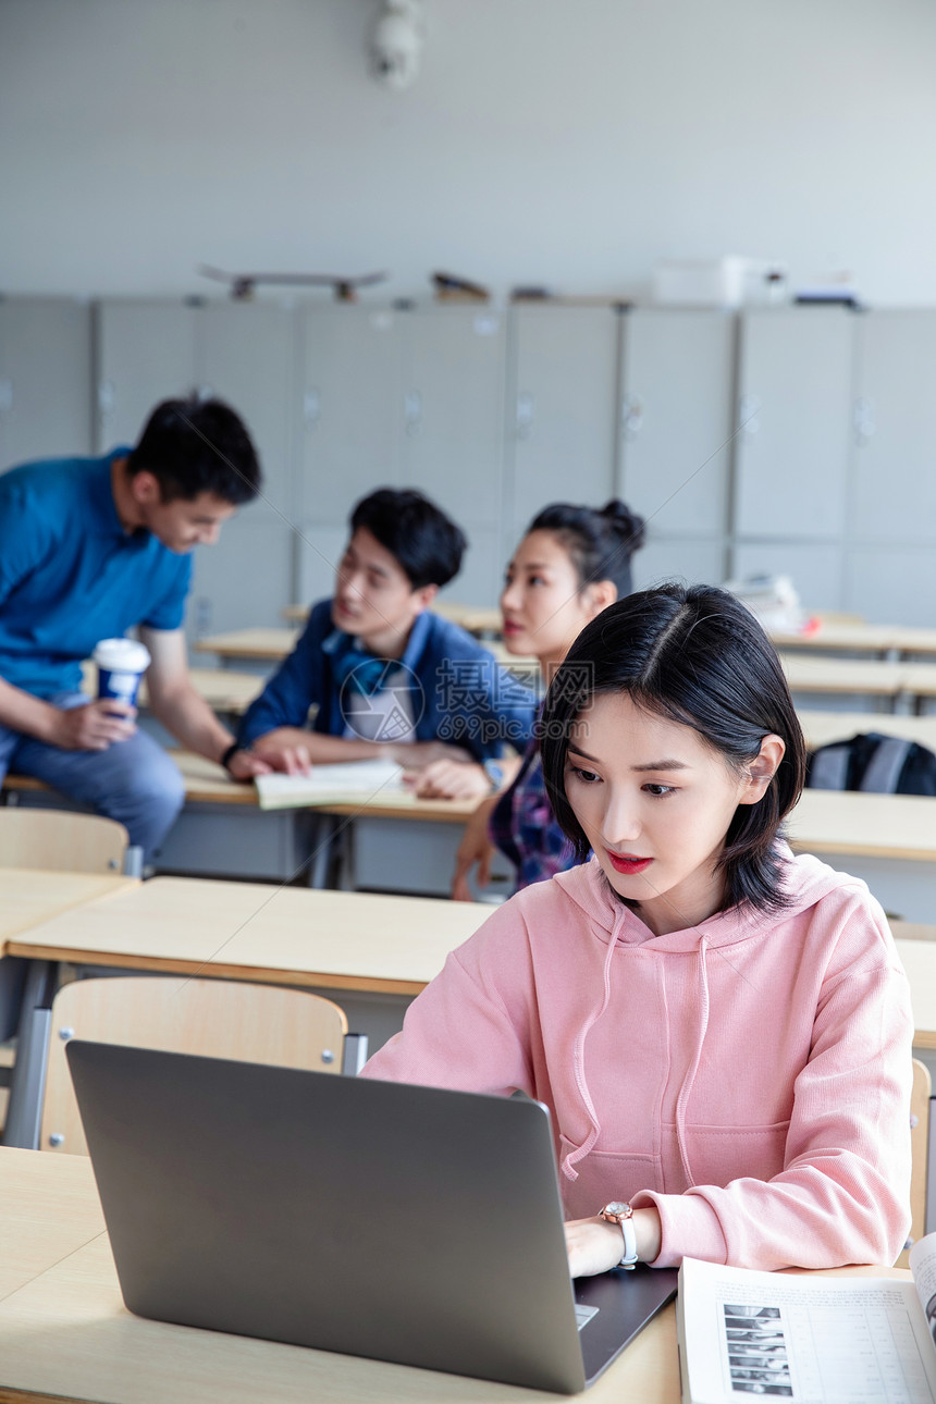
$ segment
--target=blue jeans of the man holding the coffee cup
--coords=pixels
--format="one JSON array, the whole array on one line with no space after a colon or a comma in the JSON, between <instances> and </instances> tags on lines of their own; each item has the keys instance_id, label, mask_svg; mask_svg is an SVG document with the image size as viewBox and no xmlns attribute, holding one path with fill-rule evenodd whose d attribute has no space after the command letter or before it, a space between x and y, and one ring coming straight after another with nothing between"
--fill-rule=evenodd
<instances>
[{"instance_id":1,"label":"blue jeans of the man holding the coffee cup","mask_svg":"<svg viewBox=\"0 0 936 1404\"><path fill-rule=\"evenodd\" d=\"M63 692L51 701L72 708L87 698ZM178 767L145 731L114 741L105 751L65 751L0 726L0 779L7 771L32 775L98 814L119 820L131 844L143 849L145 862L156 856L185 800Z\"/></svg>"}]
</instances>

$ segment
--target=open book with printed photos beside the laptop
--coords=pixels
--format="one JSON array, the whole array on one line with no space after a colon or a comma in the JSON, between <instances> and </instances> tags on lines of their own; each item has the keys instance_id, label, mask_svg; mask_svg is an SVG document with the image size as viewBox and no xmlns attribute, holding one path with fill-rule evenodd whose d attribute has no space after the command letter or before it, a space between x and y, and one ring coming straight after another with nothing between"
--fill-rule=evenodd
<instances>
[{"instance_id":1,"label":"open book with printed photos beside the laptop","mask_svg":"<svg viewBox=\"0 0 936 1404\"><path fill-rule=\"evenodd\" d=\"M683 1404L936 1404L936 1234L907 1278L749 1272L683 1259Z\"/></svg>"}]
</instances>

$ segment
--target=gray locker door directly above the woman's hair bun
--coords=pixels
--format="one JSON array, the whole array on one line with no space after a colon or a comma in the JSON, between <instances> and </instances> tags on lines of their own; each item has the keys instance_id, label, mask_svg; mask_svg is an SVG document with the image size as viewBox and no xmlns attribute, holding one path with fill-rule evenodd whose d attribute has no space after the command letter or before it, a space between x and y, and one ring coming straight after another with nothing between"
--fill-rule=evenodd
<instances>
[{"instance_id":1,"label":"gray locker door directly above the woman's hair bun","mask_svg":"<svg viewBox=\"0 0 936 1404\"><path fill-rule=\"evenodd\" d=\"M507 473L515 535L553 501L615 490L620 316L612 307L511 310Z\"/></svg>"}]
</instances>

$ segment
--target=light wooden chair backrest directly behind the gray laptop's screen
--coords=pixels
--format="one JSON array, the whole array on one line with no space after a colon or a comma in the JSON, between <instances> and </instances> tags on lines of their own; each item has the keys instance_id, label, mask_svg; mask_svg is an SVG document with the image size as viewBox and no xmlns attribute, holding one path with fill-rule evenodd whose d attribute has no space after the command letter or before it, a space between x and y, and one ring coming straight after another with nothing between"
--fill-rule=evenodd
<instances>
[{"instance_id":1,"label":"light wooden chair backrest directly behind the gray laptop's screen","mask_svg":"<svg viewBox=\"0 0 936 1404\"><path fill-rule=\"evenodd\" d=\"M240 980L74 980L52 1005L42 1150L87 1155L65 1045L72 1038L341 1073L344 1009L306 990Z\"/></svg>"}]
</instances>

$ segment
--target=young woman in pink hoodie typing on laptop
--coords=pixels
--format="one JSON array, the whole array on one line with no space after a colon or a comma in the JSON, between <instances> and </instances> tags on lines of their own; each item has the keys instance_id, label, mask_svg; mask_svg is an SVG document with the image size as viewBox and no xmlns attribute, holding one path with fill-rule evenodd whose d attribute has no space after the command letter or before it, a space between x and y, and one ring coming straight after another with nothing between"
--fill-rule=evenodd
<instances>
[{"instance_id":1,"label":"young woman in pink hoodie typing on laptop","mask_svg":"<svg viewBox=\"0 0 936 1404\"><path fill-rule=\"evenodd\" d=\"M540 748L594 856L495 911L365 1075L546 1102L574 1275L892 1262L907 979L864 883L783 841L805 750L759 623L702 585L612 604Z\"/></svg>"}]
</instances>

